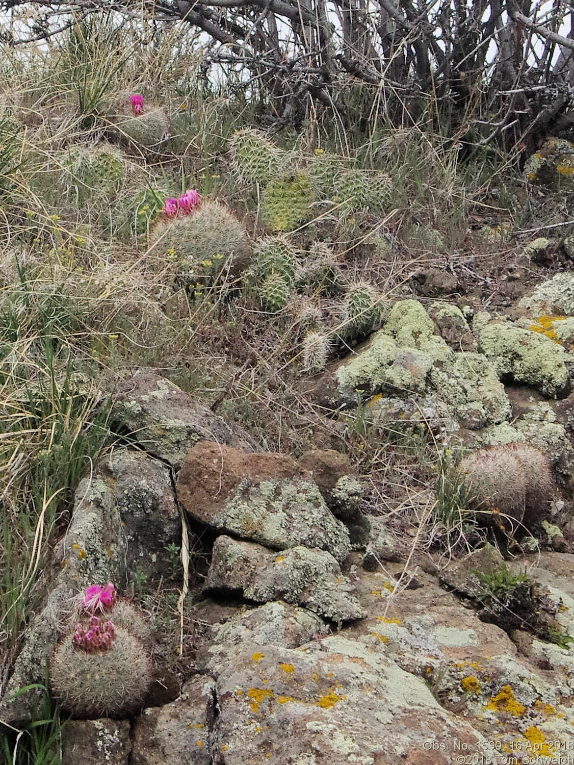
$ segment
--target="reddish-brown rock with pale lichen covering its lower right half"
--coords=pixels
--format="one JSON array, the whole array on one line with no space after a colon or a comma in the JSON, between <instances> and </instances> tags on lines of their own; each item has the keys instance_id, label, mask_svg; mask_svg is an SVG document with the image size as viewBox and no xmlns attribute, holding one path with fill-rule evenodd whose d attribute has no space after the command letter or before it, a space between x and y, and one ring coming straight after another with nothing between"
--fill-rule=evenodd
<instances>
[{"instance_id":1,"label":"reddish-brown rock with pale lichen covering its lower right half","mask_svg":"<svg viewBox=\"0 0 574 765\"><path fill-rule=\"evenodd\" d=\"M349 532L319 488L286 454L244 454L202 442L186 457L177 497L196 520L283 550L297 545L349 554Z\"/></svg>"}]
</instances>

